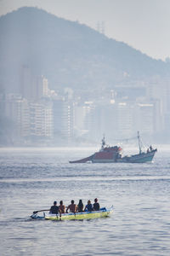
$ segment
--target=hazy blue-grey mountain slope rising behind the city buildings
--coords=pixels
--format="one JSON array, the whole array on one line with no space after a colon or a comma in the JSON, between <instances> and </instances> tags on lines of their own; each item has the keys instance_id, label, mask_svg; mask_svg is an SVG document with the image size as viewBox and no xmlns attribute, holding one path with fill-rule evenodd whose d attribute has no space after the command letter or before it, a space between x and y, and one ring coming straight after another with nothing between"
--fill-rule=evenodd
<instances>
[{"instance_id":1,"label":"hazy blue-grey mountain slope rising behind the city buildings","mask_svg":"<svg viewBox=\"0 0 170 256\"><path fill-rule=\"evenodd\" d=\"M84 91L170 71L169 63L42 9L24 7L1 16L0 35L1 90L18 90L23 65L43 74L51 89Z\"/></svg>"}]
</instances>

